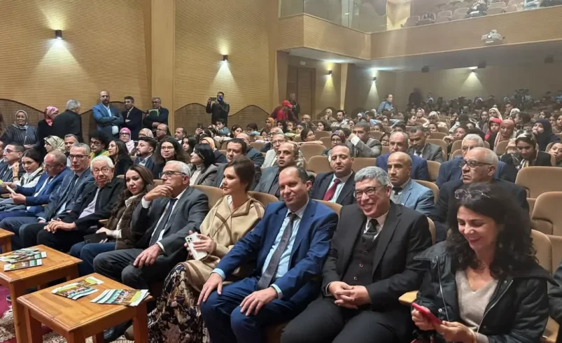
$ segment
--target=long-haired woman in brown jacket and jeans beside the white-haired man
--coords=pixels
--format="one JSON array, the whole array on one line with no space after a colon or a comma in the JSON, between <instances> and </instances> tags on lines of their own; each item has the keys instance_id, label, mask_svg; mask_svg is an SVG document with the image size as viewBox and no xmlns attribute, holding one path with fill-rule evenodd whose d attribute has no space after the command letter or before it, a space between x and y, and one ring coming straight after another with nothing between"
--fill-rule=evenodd
<instances>
[{"instance_id":1,"label":"long-haired woman in brown jacket and jeans beside the white-haired man","mask_svg":"<svg viewBox=\"0 0 562 343\"><path fill-rule=\"evenodd\" d=\"M101 243L86 243L81 241L70 249L70 255L80 258L78 265L80 276L94 272L94 258L100 253L119 249L134 248L140 238L131 232L131 217L141 198L153 188L153 178L146 167L134 165L125 173L125 188L119 194L118 200L111 209L111 217L103 228L96 233L106 235L108 241Z\"/></svg>"}]
</instances>

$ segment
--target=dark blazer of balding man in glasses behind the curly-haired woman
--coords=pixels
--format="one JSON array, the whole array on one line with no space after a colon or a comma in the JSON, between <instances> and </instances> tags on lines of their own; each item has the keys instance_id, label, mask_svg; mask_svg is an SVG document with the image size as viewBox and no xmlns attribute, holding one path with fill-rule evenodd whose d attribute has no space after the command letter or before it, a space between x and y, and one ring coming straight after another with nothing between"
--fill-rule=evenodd
<instances>
[{"instance_id":1,"label":"dark blazer of balding man in glasses behind the curly-haired woman","mask_svg":"<svg viewBox=\"0 0 562 343\"><path fill-rule=\"evenodd\" d=\"M521 210L529 213L529 204L527 202L526 190L510 181L496 180L494 181L500 188L503 188L507 194L512 195L517 203L521 206ZM436 241L443 241L447 236L447 213L453 207L455 199L455 191L464 185L463 180L451 180L443 184L439 190L439 198L433 207L433 211L429 218L435 223ZM529 232L531 235L531 232Z\"/></svg>"}]
</instances>

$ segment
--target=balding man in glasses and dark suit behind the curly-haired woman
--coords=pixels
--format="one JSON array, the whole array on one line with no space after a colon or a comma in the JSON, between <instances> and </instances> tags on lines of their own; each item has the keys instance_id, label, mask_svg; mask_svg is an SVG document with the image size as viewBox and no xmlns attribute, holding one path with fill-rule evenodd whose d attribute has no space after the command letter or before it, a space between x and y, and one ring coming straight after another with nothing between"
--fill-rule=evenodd
<instances>
[{"instance_id":1,"label":"balding man in glasses and dark suit behind the curly-haired woman","mask_svg":"<svg viewBox=\"0 0 562 343\"><path fill-rule=\"evenodd\" d=\"M463 185L477 182L494 182L512 195L521 205L521 209L529 212L527 193L524 188L515 183L494 179L498 166L498 155L486 148L472 148L463 158L463 178L451 180L443 184L439 192L439 199L429 218L435 223L435 238L443 241L447 237L447 213L454 202L455 191ZM531 234L531 232L529 232Z\"/></svg>"}]
</instances>

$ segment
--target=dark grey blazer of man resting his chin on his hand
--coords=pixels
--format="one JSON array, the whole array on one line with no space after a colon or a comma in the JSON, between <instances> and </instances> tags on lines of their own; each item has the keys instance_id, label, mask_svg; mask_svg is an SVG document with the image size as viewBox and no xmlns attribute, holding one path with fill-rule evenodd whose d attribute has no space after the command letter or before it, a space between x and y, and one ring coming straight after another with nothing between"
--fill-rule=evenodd
<instances>
[{"instance_id":1,"label":"dark grey blazer of man resting his chin on his hand","mask_svg":"<svg viewBox=\"0 0 562 343\"><path fill-rule=\"evenodd\" d=\"M141 237L135 248L148 248L150 238L160 217L164 216L164 209L169 203L169 197L153 200L150 207L145 209L142 202L136 207L131 220L131 231L135 237ZM189 232L199 232L199 226L209 212L209 198L192 187L188 187L178 200L174 211L171 212L168 226L164 231L160 244L164 246L164 260L177 262L185 260L188 253L183 247L185 237Z\"/></svg>"}]
</instances>

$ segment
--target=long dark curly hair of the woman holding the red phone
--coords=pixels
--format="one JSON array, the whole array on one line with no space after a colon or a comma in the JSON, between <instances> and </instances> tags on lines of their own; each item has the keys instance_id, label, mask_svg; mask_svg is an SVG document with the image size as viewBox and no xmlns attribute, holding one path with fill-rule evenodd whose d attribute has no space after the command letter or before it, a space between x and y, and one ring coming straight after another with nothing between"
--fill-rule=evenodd
<instances>
[{"instance_id":1,"label":"long dark curly hair of the woman holding the red phone","mask_svg":"<svg viewBox=\"0 0 562 343\"><path fill-rule=\"evenodd\" d=\"M448 218L451 233L447 237L447 253L457 269L477 269L480 265L475 251L458 231L457 212L460 207L490 217L501 226L496 240L496 254L490 265L490 274L494 278L502 279L513 270L525 268L536 261L531 240L531 221L513 197L493 183L475 183L462 189L469 195L455 200Z\"/></svg>"}]
</instances>

